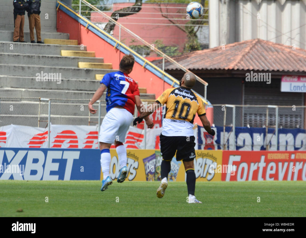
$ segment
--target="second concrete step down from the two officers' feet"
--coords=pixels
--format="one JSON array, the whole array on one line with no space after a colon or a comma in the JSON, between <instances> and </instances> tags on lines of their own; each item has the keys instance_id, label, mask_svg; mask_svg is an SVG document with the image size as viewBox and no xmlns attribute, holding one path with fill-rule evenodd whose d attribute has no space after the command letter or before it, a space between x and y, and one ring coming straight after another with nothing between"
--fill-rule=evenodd
<instances>
[{"instance_id":1,"label":"second concrete step down from the two officers' feet","mask_svg":"<svg viewBox=\"0 0 306 238\"><path fill-rule=\"evenodd\" d=\"M11 54L0 53L0 64L24 64L29 65L49 65L53 67L78 67L80 61L90 63L103 63L103 58L95 57L66 57L54 55L30 55L30 54Z\"/></svg>"}]
</instances>

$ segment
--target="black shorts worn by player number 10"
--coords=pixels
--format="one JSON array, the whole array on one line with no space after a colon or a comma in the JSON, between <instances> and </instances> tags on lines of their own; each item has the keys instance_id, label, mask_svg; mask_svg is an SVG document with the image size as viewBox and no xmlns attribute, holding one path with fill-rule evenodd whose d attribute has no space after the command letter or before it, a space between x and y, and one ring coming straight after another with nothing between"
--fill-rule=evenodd
<instances>
[{"instance_id":1,"label":"black shorts worn by player number 10","mask_svg":"<svg viewBox=\"0 0 306 238\"><path fill-rule=\"evenodd\" d=\"M160 134L160 154L164 160L193 161L196 158L194 136L164 136Z\"/></svg>"}]
</instances>

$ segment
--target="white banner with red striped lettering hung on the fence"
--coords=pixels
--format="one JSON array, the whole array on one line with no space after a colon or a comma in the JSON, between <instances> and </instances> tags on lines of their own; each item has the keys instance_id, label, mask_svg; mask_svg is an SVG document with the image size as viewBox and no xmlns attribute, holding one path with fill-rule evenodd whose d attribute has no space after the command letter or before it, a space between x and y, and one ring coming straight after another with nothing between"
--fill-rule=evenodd
<instances>
[{"instance_id":1,"label":"white banner with red striped lettering hung on the fence","mask_svg":"<svg viewBox=\"0 0 306 238\"><path fill-rule=\"evenodd\" d=\"M146 148L159 149L162 128L147 129ZM125 147L144 149L144 130L130 126ZM47 148L48 131L44 128L8 125L0 127L0 147ZM50 148L98 148L98 126L50 125ZM112 145L111 148L115 148Z\"/></svg>"}]
</instances>

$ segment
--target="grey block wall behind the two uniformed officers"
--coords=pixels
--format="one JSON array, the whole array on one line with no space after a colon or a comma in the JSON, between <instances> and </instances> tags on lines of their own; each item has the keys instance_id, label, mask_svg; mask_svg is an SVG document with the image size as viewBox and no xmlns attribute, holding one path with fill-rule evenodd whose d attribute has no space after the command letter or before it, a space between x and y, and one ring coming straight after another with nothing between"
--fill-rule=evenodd
<instances>
[{"instance_id":1,"label":"grey block wall behind the two uniformed officers","mask_svg":"<svg viewBox=\"0 0 306 238\"><path fill-rule=\"evenodd\" d=\"M41 31L56 31L56 4L57 0L42 0L40 7ZM14 30L13 0L0 1L0 30ZM48 14L48 19L46 15ZM26 12L24 31L29 31L29 19Z\"/></svg>"}]
</instances>

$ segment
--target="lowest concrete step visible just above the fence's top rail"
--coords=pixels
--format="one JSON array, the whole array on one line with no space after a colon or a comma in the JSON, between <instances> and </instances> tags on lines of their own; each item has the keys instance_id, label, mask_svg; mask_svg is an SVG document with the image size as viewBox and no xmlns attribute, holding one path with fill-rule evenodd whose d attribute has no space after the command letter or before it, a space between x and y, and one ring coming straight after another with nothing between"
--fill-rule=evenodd
<instances>
[{"instance_id":1,"label":"lowest concrete step visible just above the fence's top rail","mask_svg":"<svg viewBox=\"0 0 306 238\"><path fill-rule=\"evenodd\" d=\"M55 83L56 82L47 82ZM75 91L75 90L39 90L39 89L21 89L21 88L0 88L1 97L44 97L53 99L84 99L90 100L94 91ZM155 99L155 94L140 93L141 100ZM105 93L101 97L105 100Z\"/></svg>"}]
</instances>

